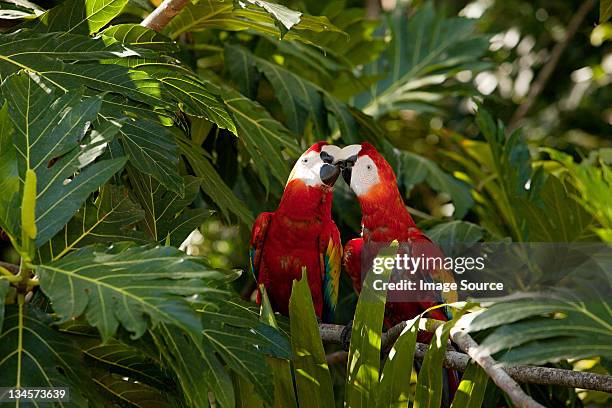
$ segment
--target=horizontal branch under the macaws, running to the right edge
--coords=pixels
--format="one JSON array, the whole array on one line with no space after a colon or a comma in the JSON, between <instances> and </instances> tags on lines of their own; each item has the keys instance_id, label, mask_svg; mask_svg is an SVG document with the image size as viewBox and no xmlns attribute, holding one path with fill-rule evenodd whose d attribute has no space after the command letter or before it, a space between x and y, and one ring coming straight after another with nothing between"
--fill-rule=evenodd
<instances>
[{"instance_id":1,"label":"horizontal branch under the macaws, running to the right edge","mask_svg":"<svg viewBox=\"0 0 612 408\"><path fill-rule=\"evenodd\" d=\"M427 319L425 321L425 330L435 331L435 328L441 323L435 320ZM390 347L399 337L402 330L406 327L405 323L400 323L392 327L383 334L382 349ZM342 343L340 337L344 326L337 324L320 324L319 331L321 339L325 343ZM455 340L455 338L453 338ZM415 358L422 360L427 351L427 344L417 343L415 350ZM346 352L332 353L328 358L329 364L338 364L346 361L348 354ZM446 368L453 370L465 371L470 356L465 353L456 351L447 351L444 356L443 365ZM500 369L499 366L496 367ZM543 384L543 385L559 385L568 388L582 388L586 390L596 390L612 393L612 376L582 373L579 371L563 370L560 368L538 367L517 365L512 367L503 367L510 377L521 383Z\"/></svg>"}]
</instances>

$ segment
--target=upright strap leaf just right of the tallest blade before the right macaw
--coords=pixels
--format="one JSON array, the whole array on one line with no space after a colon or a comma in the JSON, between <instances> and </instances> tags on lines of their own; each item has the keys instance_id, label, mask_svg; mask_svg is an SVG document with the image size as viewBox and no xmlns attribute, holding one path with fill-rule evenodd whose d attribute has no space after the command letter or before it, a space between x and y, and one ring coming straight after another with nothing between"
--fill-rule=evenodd
<instances>
[{"instance_id":1,"label":"upright strap leaf just right of the tallest blade before the right macaw","mask_svg":"<svg viewBox=\"0 0 612 408\"><path fill-rule=\"evenodd\" d=\"M395 407L409 403L413 394L410 377L418 330L419 317L408 320L389 351L376 394L377 407Z\"/></svg>"}]
</instances>

